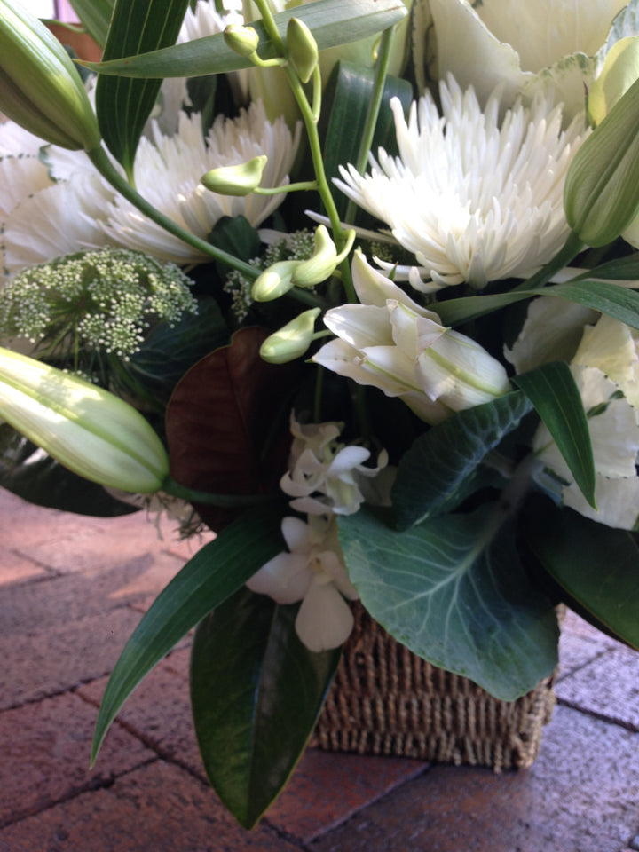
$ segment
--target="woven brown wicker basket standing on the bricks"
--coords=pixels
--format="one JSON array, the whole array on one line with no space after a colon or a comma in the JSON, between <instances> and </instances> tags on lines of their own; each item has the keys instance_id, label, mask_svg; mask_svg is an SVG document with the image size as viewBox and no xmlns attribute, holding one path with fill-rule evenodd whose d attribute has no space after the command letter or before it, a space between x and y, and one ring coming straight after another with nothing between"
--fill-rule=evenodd
<instances>
[{"instance_id":1,"label":"woven brown wicker basket standing on the bricks","mask_svg":"<svg viewBox=\"0 0 639 852\"><path fill-rule=\"evenodd\" d=\"M312 746L501 769L529 767L555 704L553 678L493 698L395 642L360 606Z\"/></svg>"}]
</instances>

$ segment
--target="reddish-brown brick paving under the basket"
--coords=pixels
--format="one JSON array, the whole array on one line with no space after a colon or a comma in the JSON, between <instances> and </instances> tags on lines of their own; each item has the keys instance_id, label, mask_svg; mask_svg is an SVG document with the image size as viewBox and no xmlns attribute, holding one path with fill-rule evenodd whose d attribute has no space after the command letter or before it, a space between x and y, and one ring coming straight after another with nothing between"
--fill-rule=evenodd
<instances>
[{"instance_id":1,"label":"reddish-brown brick paving under the basket","mask_svg":"<svg viewBox=\"0 0 639 852\"><path fill-rule=\"evenodd\" d=\"M0 491L0 852L633 852L639 655L572 613L533 768L309 750L254 832L199 761L188 640L140 684L89 768L106 678L189 545Z\"/></svg>"}]
</instances>

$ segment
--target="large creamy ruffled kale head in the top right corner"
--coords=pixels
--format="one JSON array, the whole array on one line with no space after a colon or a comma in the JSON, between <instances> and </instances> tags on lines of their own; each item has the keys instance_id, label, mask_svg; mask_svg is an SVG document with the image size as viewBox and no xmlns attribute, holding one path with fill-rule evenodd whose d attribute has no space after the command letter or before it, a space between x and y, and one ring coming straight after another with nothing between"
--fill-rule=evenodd
<instances>
[{"instance_id":1,"label":"large creamy ruffled kale head in the top right corner","mask_svg":"<svg viewBox=\"0 0 639 852\"><path fill-rule=\"evenodd\" d=\"M549 86L572 117L611 45L639 34L636 12L635 0L422 0L417 83L453 74L462 87L472 83L482 102L502 83L507 103ZM436 43L426 44L433 25ZM430 67L422 75L424 62Z\"/></svg>"}]
</instances>

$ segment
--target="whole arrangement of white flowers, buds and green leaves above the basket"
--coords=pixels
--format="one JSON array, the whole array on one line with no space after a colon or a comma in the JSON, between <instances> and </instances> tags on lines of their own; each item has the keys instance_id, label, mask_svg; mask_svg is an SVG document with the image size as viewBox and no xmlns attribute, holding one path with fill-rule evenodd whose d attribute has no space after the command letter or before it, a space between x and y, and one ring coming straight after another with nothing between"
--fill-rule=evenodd
<instances>
[{"instance_id":1,"label":"whole arrangement of white flowers, buds and green leaves above the basket","mask_svg":"<svg viewBox=\"0 0 639 852\"><path fill-rule=\"evenodd\" d=\"M0 482L217 533L94 758L194 627L247 827L352 601L503 700L561 602L639 648L639 0L73 5L99 63L0 0Z\"/></svg>"}]
</instances>

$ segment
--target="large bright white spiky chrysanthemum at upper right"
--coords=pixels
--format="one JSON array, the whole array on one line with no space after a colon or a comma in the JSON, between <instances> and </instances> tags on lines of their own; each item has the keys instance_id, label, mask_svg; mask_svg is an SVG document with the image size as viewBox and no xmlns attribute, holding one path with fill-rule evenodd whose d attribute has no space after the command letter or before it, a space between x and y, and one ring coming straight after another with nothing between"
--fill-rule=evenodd
<instances>
[{"instance_id":1,"label":"large bright white spiky chrysanthemum at upper right","mask_svg":"<svg viewBox=\"0 0 639 852\"><path fill-rule=\"evenodd\" d=\"M435 288L526 278L568 236L564 179L587 134L583 115L562 130L561 106L537 98L500 124L499 91L484 111L472 87L462 92L452 77L440 93L442 116L427 93L407 124L392 99L399 156L380 148L367 175L340 167L335 184L389 225Z\"/></svg>"}]
</instances>

